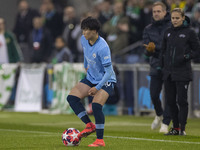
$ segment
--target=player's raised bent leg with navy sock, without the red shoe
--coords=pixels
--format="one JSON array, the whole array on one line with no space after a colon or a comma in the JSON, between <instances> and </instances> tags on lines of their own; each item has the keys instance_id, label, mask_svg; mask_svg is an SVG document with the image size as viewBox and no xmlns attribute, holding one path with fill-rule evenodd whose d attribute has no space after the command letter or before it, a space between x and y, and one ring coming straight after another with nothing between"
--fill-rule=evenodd
<instances>
[{"instance_id":1,"label":"player's raised bent leg with navy sock, without the red shoe","mask_svg":"<svg viewBox=\"0 0 200 150\"><path fill-rule=\"evenodd\" d=\"M85 123L91 123L89 116L86 113L85 107L81 103L81 99L88 96L88 90L91 87L85 83L79 82L72 88L71 92L67 96L67 101L74 113Z\"/></svg>"}]
</instances>

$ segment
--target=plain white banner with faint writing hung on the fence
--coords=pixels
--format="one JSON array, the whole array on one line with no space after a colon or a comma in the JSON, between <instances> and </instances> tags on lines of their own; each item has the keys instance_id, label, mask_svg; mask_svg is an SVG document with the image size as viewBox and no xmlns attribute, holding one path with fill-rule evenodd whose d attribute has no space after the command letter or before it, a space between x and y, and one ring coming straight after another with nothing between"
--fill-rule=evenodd
<instances>
[{"instance_id":1,"label":"plain white banner with faint writing hung on the fence","mask_svg":"<svg viewBox=\"0 0 200 150\"><path fill-rule=\"evenodd\" d=\"M42 110L43 82L46 64L23 64L19 76L15 111Z\"/></svg>"}]
</instances>

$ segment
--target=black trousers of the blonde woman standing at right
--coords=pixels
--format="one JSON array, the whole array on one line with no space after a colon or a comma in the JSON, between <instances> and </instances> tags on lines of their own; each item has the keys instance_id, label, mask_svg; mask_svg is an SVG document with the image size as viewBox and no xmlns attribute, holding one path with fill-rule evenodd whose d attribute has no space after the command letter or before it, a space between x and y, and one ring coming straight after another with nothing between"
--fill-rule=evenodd
<instances>
[{"instance_id":1,"label":"black trousers of the blonde woman standing at right","mask_svg":"<svg viewBox=\"0 0 200 150\"><path fill-rule=\"evenodd\" d=\"M164 81L165 95L170 107L173 127L180 127L183 131L185 130L188 116L188 85L189 81L172 81L170 77Z\"/></svg>"}]
</instances>

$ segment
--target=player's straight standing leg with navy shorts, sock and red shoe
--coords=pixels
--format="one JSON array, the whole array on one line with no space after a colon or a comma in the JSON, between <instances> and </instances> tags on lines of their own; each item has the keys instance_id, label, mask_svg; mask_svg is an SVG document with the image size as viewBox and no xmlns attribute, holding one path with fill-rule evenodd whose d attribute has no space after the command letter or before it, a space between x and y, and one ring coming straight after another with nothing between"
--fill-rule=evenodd
<instances>
[{"instance_id":1,"label":"player's straight standing leg with navy shorts, sock and red shoe","mask_svg":"<svg viewBox=\"0 0 200 150\"><path fill-rule=\"evenodd\" d=\"M93 98L92 109L95 117L97 139L93 144L88 145L89 147L105 146L103 140L105 117L103 114L102 107L106 103L109 95L112 94L113 90L114 84L107 83L102 87L101 90L97 92L97 94Z\"/></svg>"}]
</instances>

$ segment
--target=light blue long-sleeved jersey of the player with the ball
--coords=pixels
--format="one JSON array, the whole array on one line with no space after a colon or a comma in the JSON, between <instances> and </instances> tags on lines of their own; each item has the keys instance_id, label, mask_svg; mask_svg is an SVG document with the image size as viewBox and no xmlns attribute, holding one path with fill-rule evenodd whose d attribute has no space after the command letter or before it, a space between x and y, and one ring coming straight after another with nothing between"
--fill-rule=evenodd
<instances>
[{"instance_id":1,"label":"light blue long-sleeved jersey of the player with the ball","mask_svg":"<svg viewBox=\"0 0 200 150\"><path fill-rule=\"evenodd\" d=\"M89 41L82 36L81 44L84 53L84 67L88 68L86 78L93 84L102 84L101 81L103 81L105 75L105 67L111 66L111 73L107 81L103 81L103 84L105 84L105 82L116 83L116 76L111 62L110 48L107 42L99 36L95 44L90 45ZM101 86L98 86L98 90Z\"/></svg>"}]
</instances>

